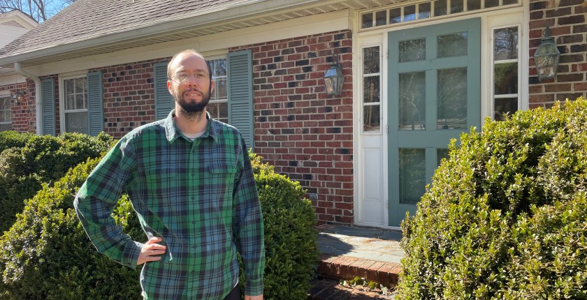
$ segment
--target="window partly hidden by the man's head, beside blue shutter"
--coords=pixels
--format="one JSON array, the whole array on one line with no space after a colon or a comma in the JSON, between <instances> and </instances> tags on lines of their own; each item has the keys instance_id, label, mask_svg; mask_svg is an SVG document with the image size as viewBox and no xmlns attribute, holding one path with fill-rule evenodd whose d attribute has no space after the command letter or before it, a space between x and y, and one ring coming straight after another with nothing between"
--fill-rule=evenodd
<instances>
[{"instance_id":1,"label":"window partly hidden by the man's head, beside blue shutter","mask_svg":"<svg viewBox=\"0 0 587 300\"><path fill-rule=\"evenodd\" d=\"M209 60L208 64L212 69L212 80L214 80L214 91L210 95L207 111L214 119L229 123L229 103L226 87L226 59Z\"/></svg>"}]
</instances>

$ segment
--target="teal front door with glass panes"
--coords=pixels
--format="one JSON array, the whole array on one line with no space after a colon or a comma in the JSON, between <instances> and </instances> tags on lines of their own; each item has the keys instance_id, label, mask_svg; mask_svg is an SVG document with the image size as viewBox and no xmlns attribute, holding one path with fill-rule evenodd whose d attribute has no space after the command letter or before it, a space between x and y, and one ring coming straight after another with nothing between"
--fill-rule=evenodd
<instances>
[{"instance_id":1,"label":"teal front door with glass panes","mask_svg":"<svg viewBox=\"0 0 587 300\"><path fill-rule=\"evenodd\" d=\"M479 128L479 18L389 32L389 225L430 183L451 138Z\"/></svg>"}]
</instances>

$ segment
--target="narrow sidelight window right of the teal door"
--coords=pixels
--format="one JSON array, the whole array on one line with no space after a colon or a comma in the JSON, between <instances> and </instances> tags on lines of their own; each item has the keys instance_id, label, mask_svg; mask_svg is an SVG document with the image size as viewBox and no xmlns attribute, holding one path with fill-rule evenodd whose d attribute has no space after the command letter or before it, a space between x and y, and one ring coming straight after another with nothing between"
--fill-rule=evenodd
<instances>
[{"instance_id":1,"label":"narrow sidelight window right of the teal door","mask_svg":"<svg viewBox=\"0 0 587 300\"><path fill-rule=\"evenodd\" d=\"M493 29L493 119L519 109L519 29Z\"/></svg>"}]
</instances>

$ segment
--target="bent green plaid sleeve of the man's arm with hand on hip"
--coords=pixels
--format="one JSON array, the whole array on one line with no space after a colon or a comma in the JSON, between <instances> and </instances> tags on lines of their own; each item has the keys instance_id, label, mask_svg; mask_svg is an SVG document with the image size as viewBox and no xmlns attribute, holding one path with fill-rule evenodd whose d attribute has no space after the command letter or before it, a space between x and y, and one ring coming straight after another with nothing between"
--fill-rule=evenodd
<instances>
[{"instance_id":1,"label":"bent green plaid sleeve of the man's arm with hand on hip","mask_svg":"<svg viewBox=\"0 0 587 300\"><path fill-rule=\"evenodd\" d=\"M73 202L96 249L128 267L136 267L143 243L122 234L122 227L116 225L112 212L134 165L133 149L123 138L89 174Z\"/></svg>"}]
</instances>

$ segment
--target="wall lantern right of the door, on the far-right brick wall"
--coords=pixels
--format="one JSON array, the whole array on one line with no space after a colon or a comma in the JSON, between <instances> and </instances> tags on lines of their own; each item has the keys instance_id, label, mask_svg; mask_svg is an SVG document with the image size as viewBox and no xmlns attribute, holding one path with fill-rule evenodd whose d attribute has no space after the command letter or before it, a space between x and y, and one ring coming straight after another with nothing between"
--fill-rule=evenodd
<instances>
[{"instance_id":1,"label":"wall lantern right of the door, on the far-right brick wall","mask_svg":"<svg viewBox=\"0 0 587 300\"><path fill-rule=\"evenodd\" d=\"M542 81L556 78L558 59L560 59L560 52L556 48L554 38L550 36L549 24L546 24L540 45L538 45L534 53L538 80Z\"/></svg>"}]
</instances>

